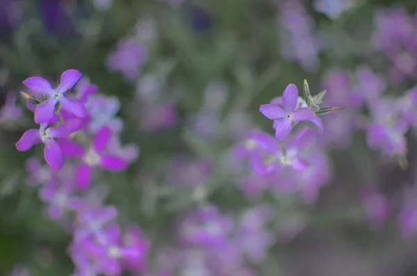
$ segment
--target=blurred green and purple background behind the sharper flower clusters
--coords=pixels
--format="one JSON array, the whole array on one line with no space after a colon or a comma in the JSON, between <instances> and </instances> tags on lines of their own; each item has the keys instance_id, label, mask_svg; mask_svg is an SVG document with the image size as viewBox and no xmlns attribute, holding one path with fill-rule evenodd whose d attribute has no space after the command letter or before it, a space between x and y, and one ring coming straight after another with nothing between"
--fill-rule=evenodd
<instances>
[{"instance_id":1,"label":"blurred green and purple background behind the sharper flower clusters","mask_svg":"<svg viewBox=\"0 0 417 276\"><path fill-rule=\"evenodd\" d=\"M416 275L416 8L0 0L0 275ZM89 133L111 127L130 165L67 196L114 206L123 232L140 229L146 246L124 274L88 274L71 250L79 213L45 195L57 176L42 147L15 148L36 128L22 81L55 87L69 69L83 73L76 95L95 91ZM322 134L303 124L306 171L260 176L234 152L254 129L273 136L259 106L289 83L302 96L304 79L311 95L327 90L322 107L346 108L321 116Z\"/></svg>"}]
</instances>

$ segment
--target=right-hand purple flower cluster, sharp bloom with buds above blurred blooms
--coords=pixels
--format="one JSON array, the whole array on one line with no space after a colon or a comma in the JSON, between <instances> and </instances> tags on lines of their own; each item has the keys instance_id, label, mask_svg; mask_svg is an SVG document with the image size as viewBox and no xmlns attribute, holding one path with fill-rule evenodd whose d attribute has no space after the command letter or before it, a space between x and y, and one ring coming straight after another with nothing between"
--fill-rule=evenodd
<instances>
[{"instance_id":1,"label":"right-hand purple flower cluster, sharp bloom with buds above blurred blooms","mask_svg":"<svg viewBox=\"0 0 417 276\"><path fill-rule=\"evenodd\" d=\"M343 109L343 106L320 108L326 91L312 96L304 81L304 99L297 87L290 84L282 97L263 104L259 110L273 121L275 137L261 131L251 131L233 150L235 160L246 160L249 175L241 179L248 196L259 196L265 189L277 195L300 193L305 203L316 200L318 191L329 181L331 168L317 136L310 127L293 128L308 122L321 133L318 115Z\"/></svg>"}]
</instances>

